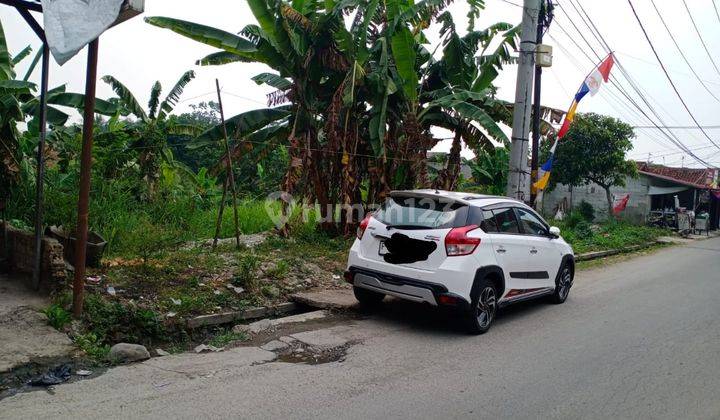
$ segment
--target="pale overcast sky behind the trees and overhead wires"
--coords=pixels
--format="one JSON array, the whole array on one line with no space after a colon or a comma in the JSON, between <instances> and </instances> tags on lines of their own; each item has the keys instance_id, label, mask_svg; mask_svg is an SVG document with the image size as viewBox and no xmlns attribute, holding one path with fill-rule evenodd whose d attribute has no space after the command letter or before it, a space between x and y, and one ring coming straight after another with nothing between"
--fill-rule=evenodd
<instances>
[{"instance_id":1,"label":"pale overcast sky behind the trees and overhead wires","mask_svg":"<svg viewBox=\"0 0 720 420\"><path fill-rule=\"evenodd\" d=\"M618 61L624 65L631 77L648 95L654 106L668 125L693 125L689 114L672 90L652 50L645 40L627 0L589 1L579 0L603 35L615 51ZM720 65L720 18L713 8L713 0L686 0L709 53ZM717 1L717 0L716 0ZM565 109L572 95L578 89L585 75L592 69L585 54L595 60L585 41L580 37L573 23L577 25L595 51L604 56L598 41L590 29L583 23L570 0L558 0L563 9L557 7L556 19L545 37L545 43L554 48L553 66L543 73L543 105ZM503 0L486 0L487 7L482 12L478 27L498 21L518 23L521 8ZM512 0L522 3L522 0ZM683 48L685 55L695 72L708 88L720 98L720 72L713 67L708 54L702 47L697 33L693 29L688 13L681 0L655 0L675 39ZM669 70L681 95L695 118L701 125L720 126L720 102L714 99L692 75L690 69L678 54L671 38L662 26L650 0L633 0L637 12L648 31L658 53ZM465 28L467 5L456 0L450 6L458 28ZM146 0L144 16L168 16L218 27L233 33L255 20L244 0ZM39 16L39 19L41 17ZM19 14L11 7L0 5L0 20L5 29L11 53L16 53L28 44L37 48L39 42L27 27ZM567 31L570 37L563 31ZM438 25L429 29L430 39L437 42ZM572 40L570 39L572 38ZM573 40L582 50L573 43ZM430 46L432 50L434 45ZM110 29L100 39L99 75L112 74L136 95L138 100L147 103L150 87L159 80L165 89L173 86L178 77L188 69L197 72L197 78L186 89L177 112L186 111L189 105L200 101L215 100L215 78L220 79L223 89L223 102L226 115L265 106L265 94L271 89L257 86L250 80L252 76L268 69L264 65L236 63L220 67L197 67L195 60L215 51L211 47L174 34L168 30L146 24L136 17ZM584 51L584 52L583 52ZM85 52L59 67L52 62L50 87L67 84L69 91L84 91ZM30 60L26 60L28 63ZM507 66L496 84L499 96L514 100L515 66ZM19 73L23 74L21 67ZM628 92L637 98L625 78L617 68L613 74ZM39 70L32 80L39 82ZM98 97L108 98L112 91L104 83L98 84ZM622 101L621 101L622 100ZM636 99L639 101L639 99ZM622 103L621 103L622 102ZM624 99L609 85L601 88L596 96L586 96L578 107L579 112L598 112L620 118L632 125L649 125ZM647 110L646 110L647 112ZM649 112L648 112L649 113ZM637 138L635 148L629 157L645 160L651 153L652 160L672 166L697 166L693 159L685 156L675 146L663 138L657 129L639 128L635 130ZM720 150L711 145L700 130L676 129L674 132L690 149L701 158L720 166ZM720 144L720 129L707 129L706 132ZM509 133L509 130L508 130ZM441 144L438 149L447 149Z\"/></svg>"}]
</instances>

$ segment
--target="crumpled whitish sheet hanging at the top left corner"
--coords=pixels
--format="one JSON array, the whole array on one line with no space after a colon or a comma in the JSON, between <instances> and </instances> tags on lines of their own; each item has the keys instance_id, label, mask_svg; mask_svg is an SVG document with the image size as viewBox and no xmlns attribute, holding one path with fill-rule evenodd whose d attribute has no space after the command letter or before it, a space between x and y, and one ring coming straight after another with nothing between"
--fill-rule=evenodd
<instances>
[{"instance_id":1,"label":"crumpled whitish sheet hanging at the top left corner","mask_svg":"<svg viewBox=\"0 0 720 420\"><path fill-rule=\"evenodd\" d=\"M42 0L45 37L63 65L117 19L123 0Z\"/></svg>"}]
</instances>

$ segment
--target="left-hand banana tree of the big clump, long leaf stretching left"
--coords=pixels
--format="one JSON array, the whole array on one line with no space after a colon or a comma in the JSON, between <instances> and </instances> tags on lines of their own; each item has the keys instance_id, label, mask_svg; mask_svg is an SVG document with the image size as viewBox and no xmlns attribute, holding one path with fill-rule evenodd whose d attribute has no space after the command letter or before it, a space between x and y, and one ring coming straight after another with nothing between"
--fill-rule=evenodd
<instances>
[{"instance_id":1,"label":"left-hand banana tree of the big clump, long leaf stretching left","mask_svg":"<svg viewBox=\"0 0 720 420\"><path fill-rule=\"evenodd\" d=\"M337 177L327 174L339 174L340 158L335 148L337 137L324 135L323 114L333 97L339 96L337 87L351 65L341 50L342 40L336 39L343 15L325 13L320 1L248 3L258 24L246 26L239 35L171 18L146 21L221 50L200 59L200 65L259 62L274 70L253 80L275 90L268 96L270 105L289 103L285 146L290 157L283 190L292 194L304 185L307 198L327 209L338 190L334 185Z\"/></svg>"}]
</instances>

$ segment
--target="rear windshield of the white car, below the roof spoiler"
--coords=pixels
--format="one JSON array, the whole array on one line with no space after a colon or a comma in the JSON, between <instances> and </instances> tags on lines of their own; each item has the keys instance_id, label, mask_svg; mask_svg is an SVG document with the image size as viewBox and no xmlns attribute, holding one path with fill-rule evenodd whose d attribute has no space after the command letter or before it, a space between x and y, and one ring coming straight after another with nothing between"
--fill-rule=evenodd
<instances>
[{"instance_id":1,"label":"rear windshield of the white car, below the roof spoiler","mask_svg":"<svg viewBox=\"0 0 720 420\"><path fill-rule=\"evenodd\" d=\"M394 196L373 217L398 228L447 229L465 224L467 206L429 197Z\"/></svg>"}]
</instances>

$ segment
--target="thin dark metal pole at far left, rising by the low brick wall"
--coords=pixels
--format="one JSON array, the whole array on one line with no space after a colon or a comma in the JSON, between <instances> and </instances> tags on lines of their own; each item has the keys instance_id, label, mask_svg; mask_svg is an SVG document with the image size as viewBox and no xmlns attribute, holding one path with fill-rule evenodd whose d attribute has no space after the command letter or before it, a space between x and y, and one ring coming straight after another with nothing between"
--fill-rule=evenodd
<instances>
[{"instance_id":1,"label":"thin dark metal pole at far left, rising by the low brick wall","mask_svg":"<svg viewBox=\"0 0 720 420\"><path fill-rule=\"evenodd\" d=\"M42 74L40 80L40 139L37 151L37 174L35 177L35 255L33 260L33 288L40 287L42 271L42 237L43 237L43 187L45 179L45 137L47 136L47 91L48 73L50 72L50 48L47 41L42 46Z\"/></svg>"}]
</instances>

